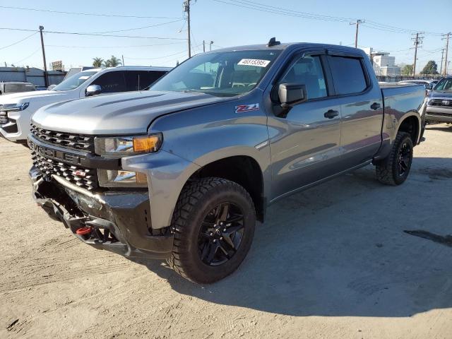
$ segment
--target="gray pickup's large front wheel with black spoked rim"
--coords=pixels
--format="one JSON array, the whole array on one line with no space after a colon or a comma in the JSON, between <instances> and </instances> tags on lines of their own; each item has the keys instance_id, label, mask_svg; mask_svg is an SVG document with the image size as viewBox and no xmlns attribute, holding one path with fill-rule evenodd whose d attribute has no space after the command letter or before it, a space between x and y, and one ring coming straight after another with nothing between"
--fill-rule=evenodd
<instances>
[{"instance_id":1,"label":"gray pickup's large front wheel with black spoked rim","mask_svg":"<svg viewBox=\"0 0 452 339\"><path fill-rule=\"evenodd\" d=\"M194 283L215 283L242 263L255 224L253 201L239 184L217 177L191 182L174 210L174 244L167 262Z\"/></svg>"}]
</instances>

